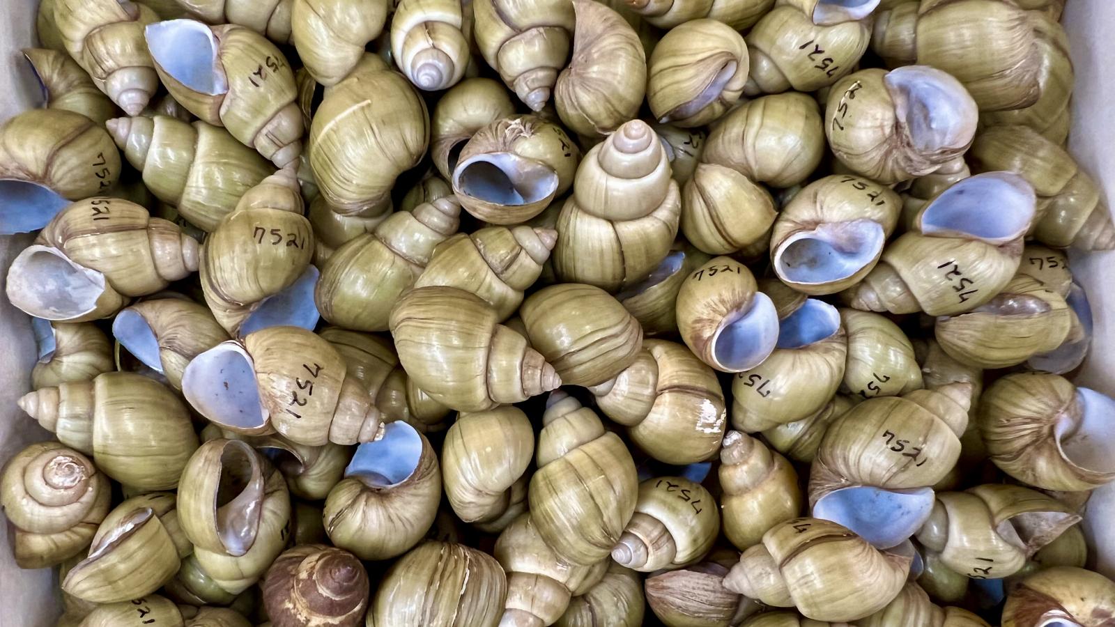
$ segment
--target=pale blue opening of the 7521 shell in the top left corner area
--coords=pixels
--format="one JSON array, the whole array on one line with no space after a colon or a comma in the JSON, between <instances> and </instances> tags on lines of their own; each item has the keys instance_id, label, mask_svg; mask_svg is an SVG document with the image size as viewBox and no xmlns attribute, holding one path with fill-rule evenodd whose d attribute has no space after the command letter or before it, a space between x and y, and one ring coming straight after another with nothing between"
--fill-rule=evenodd
<instances>
[{"instance_id":1,"label":"pale blue opening of the 7521 shell in the top left corner area","mask_svg":"<svg viewBox=\"0 0 1115 627\"><path fill-rule=\"evenodd\" d=\"M210 27L167 20L148 25L145 35L152 58L175 80L210 96L229 91L227 77L216 69L220 46Z\"/></svg>"}]
</instances>

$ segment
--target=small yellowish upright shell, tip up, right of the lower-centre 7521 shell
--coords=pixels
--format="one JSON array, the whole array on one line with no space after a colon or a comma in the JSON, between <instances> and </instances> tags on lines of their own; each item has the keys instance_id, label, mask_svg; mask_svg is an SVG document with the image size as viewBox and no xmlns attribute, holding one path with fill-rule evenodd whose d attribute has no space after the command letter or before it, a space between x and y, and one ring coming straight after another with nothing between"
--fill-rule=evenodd
<instances>
[{"instance_id":1,"label":"small yellowish upright shell, tip up, right of the lower-centre 7521 shell","mask_svg":"<svg viewBox=\"0 0 1115 627\"><path fill-rule=\"evenodd\" d=\"M729 431L720 450L720 515L724 534L739 550L758 544L763 534L802 512L797 473L765 444Z\"/></svg>"}]
</instances>

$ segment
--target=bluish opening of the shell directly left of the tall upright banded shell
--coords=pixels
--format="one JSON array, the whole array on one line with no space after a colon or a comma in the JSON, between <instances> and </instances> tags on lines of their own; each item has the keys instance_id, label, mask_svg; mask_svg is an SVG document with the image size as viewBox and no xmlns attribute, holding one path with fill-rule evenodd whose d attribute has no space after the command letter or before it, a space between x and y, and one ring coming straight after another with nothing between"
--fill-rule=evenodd
<instances>
[{"instance_id":1,"label":"bluish opening of the shell directly left of the tall upright banded shell","mask_svg":"<svg viewBox=\"0 0 1115 627\"><path fill-rule=\"evenodd\" d=\"M466 160L454 171L466 195L501 205L532 204L558 191L558 173L512 153L487 153Z\"/></svg>"}]
</instances>

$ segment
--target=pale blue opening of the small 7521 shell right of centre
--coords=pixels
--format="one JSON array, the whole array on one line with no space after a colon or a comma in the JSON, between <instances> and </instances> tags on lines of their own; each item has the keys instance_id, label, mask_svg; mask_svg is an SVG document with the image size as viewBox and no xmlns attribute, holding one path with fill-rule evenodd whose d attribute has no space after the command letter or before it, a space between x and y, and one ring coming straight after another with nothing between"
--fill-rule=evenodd
<instances>
[{"instance_id":1,"label":"pale blue opening of the small 7521 shell right of centre","mask_svg":"<svg viewBox=\"0 0 1115 627\"><path fill-rule=\"evenodd\" d=\"M717 363L730 372L749 370L762 364L778 341L778 311L770 298L755 292L752 307L725 317L712 339Z\"/></svg>"}]
</instances>

